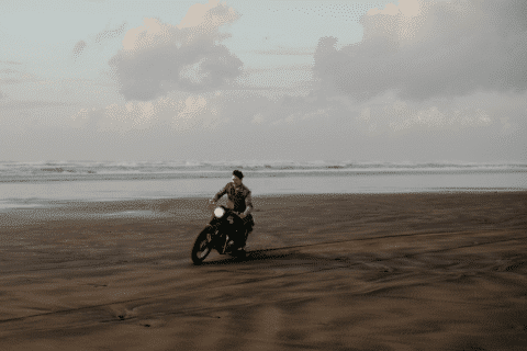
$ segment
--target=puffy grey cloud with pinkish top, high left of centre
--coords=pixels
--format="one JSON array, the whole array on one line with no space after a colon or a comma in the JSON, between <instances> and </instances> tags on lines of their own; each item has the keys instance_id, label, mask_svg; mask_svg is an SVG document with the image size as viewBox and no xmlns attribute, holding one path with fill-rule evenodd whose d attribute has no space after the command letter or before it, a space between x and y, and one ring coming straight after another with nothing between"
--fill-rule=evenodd
<instances>
[{"instance_id":1,"label":"puffy grey cloud with pinkish top, high left of centre","mask_svg":"<svg viewBox=\"0 0 527 351\"><path fill-rule=\"evenodd\" d=\"M126 100L149 101L170 91L204 92L240 75L243 63L220 42L220 27L238 14L217 0L192 5L178 25L144 19L126 32L109 65Z\"/></svg>"}]
</instances>

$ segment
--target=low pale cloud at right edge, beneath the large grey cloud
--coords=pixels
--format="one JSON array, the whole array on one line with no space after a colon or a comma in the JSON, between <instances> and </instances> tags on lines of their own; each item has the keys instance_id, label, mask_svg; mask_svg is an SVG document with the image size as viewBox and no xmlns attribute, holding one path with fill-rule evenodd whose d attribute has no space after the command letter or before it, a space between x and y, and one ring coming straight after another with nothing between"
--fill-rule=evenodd
<instances>
[{"instance_id":1,"label":"low pale cloud at right edge, beneath the large grey cloud","mask_svg":"<svg viewBox=\"0 0 527 351\"><path fill-rule=\"evenodd\" d=\"M421 102L402 100L392 92L350 109L348 115L365 136L407 138L437 132L444 136L457 135L471 144L483 134L492 137L505 129L525 138L526 111L527 92L480 91Z\"/></svg>"}]
</instances>

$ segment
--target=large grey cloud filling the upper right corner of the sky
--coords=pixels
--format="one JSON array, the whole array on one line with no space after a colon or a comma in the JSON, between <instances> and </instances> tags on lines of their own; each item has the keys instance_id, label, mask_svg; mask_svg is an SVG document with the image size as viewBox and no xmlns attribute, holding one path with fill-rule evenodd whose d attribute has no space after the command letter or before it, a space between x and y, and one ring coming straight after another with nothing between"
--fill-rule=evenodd
<instances>
[{"instance_id":1,"label":"large grey cloud filling the upper right corner of the sky","mask_svg":"<svg viewBox=\"0 0 527 351\"><path fill-rule=\"evenodd\" d=\"M401 0L361 19L363 39L321 38L314 72L325 94L366 101L527 90L527 2Z\"/></svg>"}]
</instances>

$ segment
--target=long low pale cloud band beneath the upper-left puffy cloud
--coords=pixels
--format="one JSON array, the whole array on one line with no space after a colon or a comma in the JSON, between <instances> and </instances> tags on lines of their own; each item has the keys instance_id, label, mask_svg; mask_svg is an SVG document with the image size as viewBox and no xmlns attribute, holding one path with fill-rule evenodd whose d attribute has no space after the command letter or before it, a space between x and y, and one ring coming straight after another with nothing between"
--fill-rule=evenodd
<instances>
[{"instance_id":1,"label":"long low pale cloud band beneath the upper-left puffy cloud","mask_svg":"<svg viewBox=\"0 0 527 351\"><path fill-rule=\"evenodd\" d=\"M317 102L306 102L303 97L269 97L267 90L222 90L201 94L179 91L150 101L113 103L103 109L80 109L71 115L69 124L75 128L116 133L166 126L167 129L181 134L215 131L229 123L236 123L242 128L249 125L302 124L326 118L329 112L341 110L341 106L334 105L319 106Z\"/></svg>"}]
</instances>

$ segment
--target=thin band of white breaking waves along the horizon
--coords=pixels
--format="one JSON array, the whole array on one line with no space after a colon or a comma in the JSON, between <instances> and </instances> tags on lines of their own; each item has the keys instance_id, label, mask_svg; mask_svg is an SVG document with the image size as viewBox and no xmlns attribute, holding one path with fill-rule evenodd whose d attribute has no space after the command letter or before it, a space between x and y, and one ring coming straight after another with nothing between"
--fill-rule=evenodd
<instances>
[{"instance_id":1,"label":"thin band of white breaking waves along the horizon","mask_svg":"<svg viewBox=\"0 0 527 351\"><path fill-rule=\"evenodd\" d=\"M75 176L173 176L177 178L225 177L225 172L239 169L251 177L287 177L288 173L397 173L397 172L479 172L527 171L527 163L476 163L476 162L374 162L374 161L0 161L0 178L3 181L19 177L53 177L60 179Z\"/></svg>"}]
</instances>

